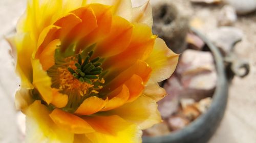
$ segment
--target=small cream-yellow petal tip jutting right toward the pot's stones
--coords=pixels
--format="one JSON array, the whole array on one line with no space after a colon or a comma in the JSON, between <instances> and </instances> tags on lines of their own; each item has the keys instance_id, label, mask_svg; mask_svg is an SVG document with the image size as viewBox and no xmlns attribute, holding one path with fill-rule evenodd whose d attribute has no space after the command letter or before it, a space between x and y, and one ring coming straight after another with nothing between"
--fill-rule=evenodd
<instances>
[{"instance_id":1,"label":"small cream-yellow petal tip jutting right toward the pot's stones","mask_svg":"<svg viewBox=\"0 0 256 143\"><path fill-rule=\"evenodd\" d=\"M158 83L146 85L143 94L147 97L154 99L156 102L164 98L166 91L160 88Z\"/></svg>"}]
</instances>

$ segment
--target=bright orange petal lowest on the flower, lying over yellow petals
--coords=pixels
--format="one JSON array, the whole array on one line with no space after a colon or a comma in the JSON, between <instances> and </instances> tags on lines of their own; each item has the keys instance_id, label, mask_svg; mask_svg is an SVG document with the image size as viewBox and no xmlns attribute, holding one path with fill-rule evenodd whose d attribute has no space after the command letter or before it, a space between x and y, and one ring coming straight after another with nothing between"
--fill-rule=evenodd
<instances>
[{"instance_id":1,"label":"bright orange petal lowest on the flower, lying over yellow petals","mask_svg":"<svg viewBox=\"0 0 256 143\"><path fill-rule=\"evenodd\" d=\"M50 117L58 127L66 131L75 134L94 132L94 129L86 121L61 109L55 108Z\"/></svg>"}]
</instances>

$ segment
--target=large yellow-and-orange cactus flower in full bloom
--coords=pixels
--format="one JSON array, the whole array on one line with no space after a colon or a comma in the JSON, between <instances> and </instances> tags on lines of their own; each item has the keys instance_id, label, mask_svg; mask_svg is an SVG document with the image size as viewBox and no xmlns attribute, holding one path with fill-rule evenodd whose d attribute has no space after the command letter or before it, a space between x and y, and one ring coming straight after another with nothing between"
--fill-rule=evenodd
<instances>
[{"instance_id":1,"label":"large yellow-and-orange cactus flower in full bloom","mask_svg":"<svg viewBox=\"0 0 256 143\"><path fill-rule=\"evenodd\" d=\"M26 142L141 142L178 62L152 23L149 2L28 0L9 39Z\"/></svg>"}]
</instances>

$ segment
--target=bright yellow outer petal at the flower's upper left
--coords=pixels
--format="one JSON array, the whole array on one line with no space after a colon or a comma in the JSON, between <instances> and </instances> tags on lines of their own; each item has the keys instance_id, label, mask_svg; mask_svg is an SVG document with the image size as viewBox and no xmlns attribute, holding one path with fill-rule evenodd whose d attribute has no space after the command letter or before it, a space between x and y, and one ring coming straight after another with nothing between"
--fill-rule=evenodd
<instances>
[{"instance_id":1,"label":"bright yellow outer petal at the flower's upper left","mask_svg":"<svg viewBox=\"0 0 256 143\"><path fill-rule=\"evenodd\" d=\"M27 11L18 22L17 32L32 32L32 40L37 42L42 30L59 17L80 8L81 4L82 0L75 3L68 0L28 0Z\"/></svg>"}]
</instances>

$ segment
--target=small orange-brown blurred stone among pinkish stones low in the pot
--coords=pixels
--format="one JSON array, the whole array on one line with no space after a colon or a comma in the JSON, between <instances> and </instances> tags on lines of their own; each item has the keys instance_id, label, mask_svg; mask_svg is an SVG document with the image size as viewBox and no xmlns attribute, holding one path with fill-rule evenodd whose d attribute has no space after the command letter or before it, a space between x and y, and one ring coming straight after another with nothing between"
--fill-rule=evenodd
<instances>
[{"instance_id":1,"label":"small orange-brown blurred stone among pinkish stones low in the pot","mask_svg":"<svg viewBox=\"0 0 256 143\"><path fill-rule=\"evenodd\" d=\"M183 115L190 121L194 121L201 114L200 111L194 105L189 105L182 110Z\"/></svg>"}]
</instances>

